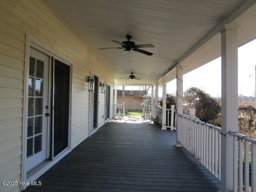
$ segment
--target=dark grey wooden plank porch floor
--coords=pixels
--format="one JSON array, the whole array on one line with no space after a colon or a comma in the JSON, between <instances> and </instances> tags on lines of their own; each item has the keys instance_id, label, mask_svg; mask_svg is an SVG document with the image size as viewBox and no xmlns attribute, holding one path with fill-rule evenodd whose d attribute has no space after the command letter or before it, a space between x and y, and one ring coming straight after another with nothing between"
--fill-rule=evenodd
<instances>
[{"instance_id":1,"label":"dark grey wooden plank porch floor","mask_svg":"<svg viewBox=\"0 0 256 192\"><path fill-rule=\"evenodd\" d=\"M26 192L216 192L220 184L150 120L112 119Z\"/></svg>"}]
</instances>

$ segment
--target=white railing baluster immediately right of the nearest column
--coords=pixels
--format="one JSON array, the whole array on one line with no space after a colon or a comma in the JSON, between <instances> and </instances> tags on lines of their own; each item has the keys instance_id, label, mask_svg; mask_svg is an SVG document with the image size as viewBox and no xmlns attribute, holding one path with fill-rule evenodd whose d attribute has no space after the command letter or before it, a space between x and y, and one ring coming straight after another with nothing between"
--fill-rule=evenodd
<instances>
[{"instance_id":1,"label":"white railing baluster immediately right of the nearest column","mask_svg":"<svg viewBox=\"0 0 256 192\"><path fill-rule=\"evenodd\" d=\"M233 137L233 192L237 192L238 186L238 146L237 146L237 139Z\"/></svg>"}]
</instances>

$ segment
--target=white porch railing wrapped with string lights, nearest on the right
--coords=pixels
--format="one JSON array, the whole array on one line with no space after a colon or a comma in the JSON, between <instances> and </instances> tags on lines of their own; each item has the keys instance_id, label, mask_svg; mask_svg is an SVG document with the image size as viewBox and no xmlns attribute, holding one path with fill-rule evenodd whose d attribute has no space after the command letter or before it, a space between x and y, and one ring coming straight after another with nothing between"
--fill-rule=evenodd
<instances>
[{"instance_id":1,"label":"white porch railing wrapped with string lights, nearest on the right","mask_svg":"<svg viewBox=\"0 0 256 192\"><path fill-rule=\"evenodd\" d=\"M184 114L177 114L180 122L178 140L218 181L221 181L221 128ZM256 139L237 132L233 137L233 192L256 192ZM222 135L222 136L221 136ZM251 163L249 162L251 159ZM251 170L251 172L250 172Z\"/></svg>"}]
</instances>

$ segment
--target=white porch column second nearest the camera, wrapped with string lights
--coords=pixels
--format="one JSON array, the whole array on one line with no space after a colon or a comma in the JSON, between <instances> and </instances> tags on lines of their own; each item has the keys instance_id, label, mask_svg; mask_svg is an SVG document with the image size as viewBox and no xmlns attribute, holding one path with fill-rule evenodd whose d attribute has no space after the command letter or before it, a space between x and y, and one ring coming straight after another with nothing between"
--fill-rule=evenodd
<instances>
[{"instance_id":1,"label":"white porch column second nearest the camera, wrapped with string lights","mask_svg":"<svg viewBox=\"0 0 256 192\"><path fill-rule=\"evenodd\" d=\"M176 66L176 110L179 114L183 113L183 71L180 66ZM176 147L180 145L180 118L176 119Z\"/></svg>"}]
</instances>

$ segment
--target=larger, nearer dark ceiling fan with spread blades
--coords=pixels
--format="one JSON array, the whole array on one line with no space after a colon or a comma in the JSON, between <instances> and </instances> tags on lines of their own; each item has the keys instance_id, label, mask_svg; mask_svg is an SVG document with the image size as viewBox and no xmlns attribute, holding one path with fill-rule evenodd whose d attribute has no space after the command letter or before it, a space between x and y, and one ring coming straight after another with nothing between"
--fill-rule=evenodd
<instances>
[{"instance_id":1,"label":"larger, nearer dark ceiling fan with spread blades","mask_svg":"<svg viewBox=\"0 0 256 192\"><path fill-rule=\"evenodd\" d=\"M113 42L115 42L115 43L117 43L117 44L120 44L122 47L100 48L99 50L117 48L117 49L124 49L123 52L124 52L124 51L133 50L133 51L136 51L136 52L140 52L140 53L146 54L146 55L148 55L148 56L151 56L151 55L152 55L152 53L150 53L150 52L148 52L148 51L145 51L145 50L142 50L142 49L139 49L139 48L154 47L154 45L152 45L152 44L140 44L140 45L136 45L133 41L130 41L130 39L132 38L132 36L126 35L126 38L127 38L127 41L123 41L122 43L119 42L119 41L114 41L114 40L112 40Z\"/></svg>"}]
</instances>

